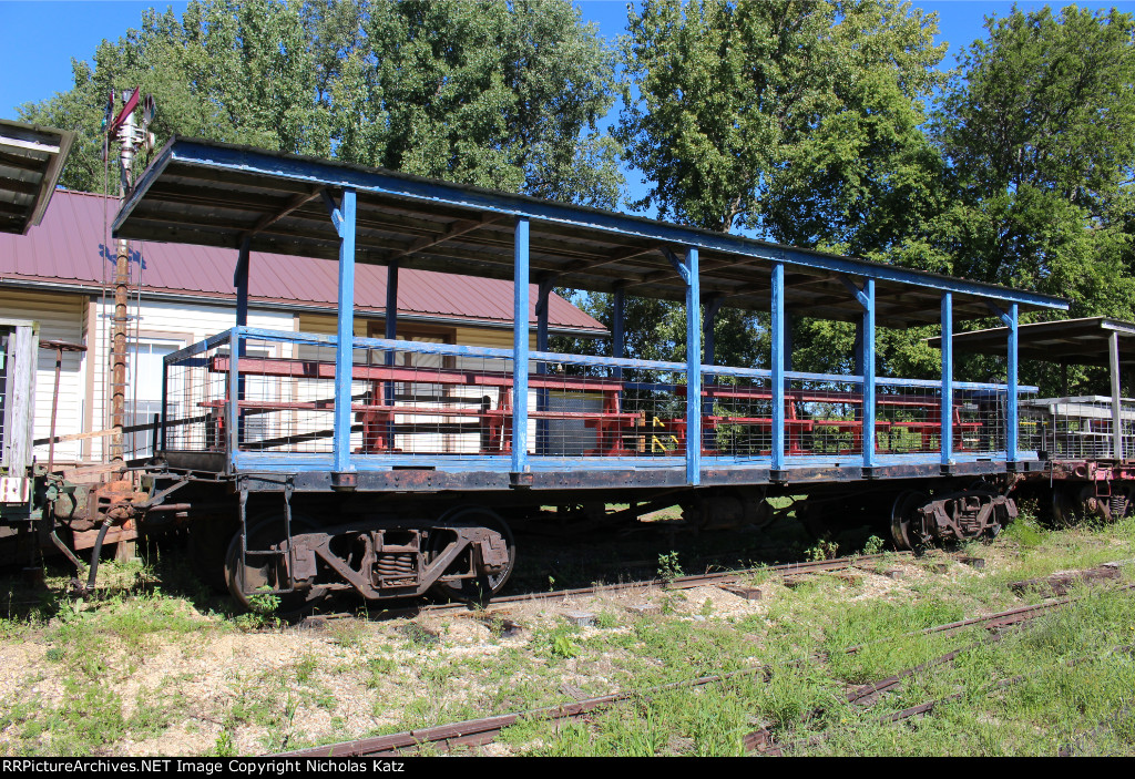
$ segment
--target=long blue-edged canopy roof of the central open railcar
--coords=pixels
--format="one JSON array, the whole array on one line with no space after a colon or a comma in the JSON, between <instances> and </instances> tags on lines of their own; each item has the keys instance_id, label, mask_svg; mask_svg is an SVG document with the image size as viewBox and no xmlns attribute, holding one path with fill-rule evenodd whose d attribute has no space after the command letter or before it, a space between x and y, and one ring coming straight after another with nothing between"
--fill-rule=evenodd
<instances>
[{"instance_id":1,"label":"long blue-edged canopy roof of the central open railcar","mask_svg":"<svg viewBox=\"0 0 1135 779\"><path fill-rule=\"evenodd\" d=\"M704 299L767 311L772 262L785 263L790 312L855 320L849 287L876 280L876 320L936 323L943 291L957 319L990 316L989 303L1067 310L1060 298L865 260L799 249L640 217L448 184L406 173L217 142L174 138L138 178L115 236L338 259L327 197L358 193L355 260L512 279L516 217L530 218L533 280L594 291L684 300L675 256L697 247Z\"/></svg>"}]
</instances>

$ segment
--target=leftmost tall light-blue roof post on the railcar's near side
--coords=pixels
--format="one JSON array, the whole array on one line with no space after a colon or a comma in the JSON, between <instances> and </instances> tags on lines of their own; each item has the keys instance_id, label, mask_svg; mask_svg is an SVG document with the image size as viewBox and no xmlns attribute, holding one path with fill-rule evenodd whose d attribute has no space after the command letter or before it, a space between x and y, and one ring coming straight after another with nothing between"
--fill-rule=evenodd
<instances>
[{"instance_id":1,"label":"leftmost tall light-blue roof post on the railcar's near side","mask_svg":"<svg viewBox=\"0 0 1135 779\"><path fill-rule=\"evenodd\" d=\"M335 472L351 466L351 379L354 375L355 192L343 192L339 206L339 312L335 344Z\"/></svg>"}]
</instances>

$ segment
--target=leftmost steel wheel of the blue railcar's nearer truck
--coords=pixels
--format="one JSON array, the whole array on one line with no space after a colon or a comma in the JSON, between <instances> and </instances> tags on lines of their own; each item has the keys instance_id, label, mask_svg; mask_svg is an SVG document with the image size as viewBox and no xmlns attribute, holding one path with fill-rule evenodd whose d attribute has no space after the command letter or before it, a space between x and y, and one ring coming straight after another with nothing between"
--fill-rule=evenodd
<instances>
[{"instance_id":1,"label":"leftmost steel wheel of the blue railcar's nearer truck","mask_svg":"<svg viewBox=\"0 0 1135 779\"><path fill-rule=\"evenodd\" d=\"M316 527L316 523L306 517L292 516L292 532L304 532ZM284 520L281 517L266 519L249 530L247 548L244 565L241 564L241 533L237 532L228 544L225 557L225 581L228 591L236 601L249 611L275 611L288 613L303 608L310 608L327 596L322 587L305 587L294 592L260 596L258 590L283 590L287 587L283 560L277 554L253 554L252 551L270 550L284 540ZM278 599L272 606L272 599Z\"/></svg>"}]
</instances>

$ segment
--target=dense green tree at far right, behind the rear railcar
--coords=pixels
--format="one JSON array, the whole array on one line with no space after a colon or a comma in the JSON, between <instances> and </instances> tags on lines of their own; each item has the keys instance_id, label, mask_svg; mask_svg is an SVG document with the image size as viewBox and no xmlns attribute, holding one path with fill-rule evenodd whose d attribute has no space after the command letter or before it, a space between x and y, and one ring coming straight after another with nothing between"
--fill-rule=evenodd
<instances>
[{"instance_id":1,"label":"dense green tree at far right, behind the rear railcar","mask_svg":"<svg viewBox=\"0 0 1135 779\"><path fill-rule=\"evenodd\" d=\"M955 276L1067 297L1073 316L1132 319L1135 20L1015 8L986 28L959 58L932 125L949 201L926 223L924 257ZM1061 391L1054 371L1027 370L1042 392ZM972 361L970 371L998 367Z\"/></svg>"}]
</instances>

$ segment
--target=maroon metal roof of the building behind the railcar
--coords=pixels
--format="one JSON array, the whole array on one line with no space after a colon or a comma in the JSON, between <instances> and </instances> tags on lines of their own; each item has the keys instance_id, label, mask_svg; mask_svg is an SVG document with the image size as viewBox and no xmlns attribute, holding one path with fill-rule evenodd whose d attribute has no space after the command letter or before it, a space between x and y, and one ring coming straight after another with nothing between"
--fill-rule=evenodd
<instances>
[{"instance_id":1,"label":"maroon metal roof of the building behind the railcar","mask_svg":"<svg viewBox=\"0 0 1135 779\"><path fill-rule=\"evenodd\" d=\"M100 288L103 265L114 249L102 247L103 209L108 218L118 210L117 200L60 190L54 194L43 222L26 236L0 235L0 277L5 281L72 282ZM101 248L100 248L101 247ZM334 263L281 254L252 253L249 276L252 300L306 304L334 313L337 276ZM136 242L131 252L132 274L142 294L167 293L200 300L229 300L235 305L233 249ZM531 321L536 322L536 286ZM440 316L468 322L512 322L512 282L403 268L398 276L398 312L407 320ZM360 264L355 270L355 306L361 314L386 307L386 269ZM548 324L553 332L572 330L606 332L606 329L557 295L548 299Z\"/></svg>"}]
</instances>

